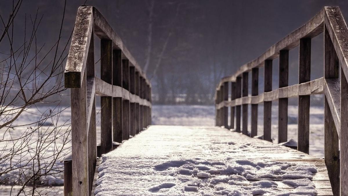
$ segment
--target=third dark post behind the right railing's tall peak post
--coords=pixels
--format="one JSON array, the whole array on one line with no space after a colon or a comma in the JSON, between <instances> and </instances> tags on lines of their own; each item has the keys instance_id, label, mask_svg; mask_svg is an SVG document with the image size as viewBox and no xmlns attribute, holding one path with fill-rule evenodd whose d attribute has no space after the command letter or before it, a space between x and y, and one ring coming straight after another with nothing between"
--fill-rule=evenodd
<instances>
[{"instance_id":1,"label":"third dark post behind the right railing's tall peak post","mask_svg":"<svg viewBox=\"0 0 348 196\"><path fill-rule=\"evenodd\" d=\"M264 92L272 91L272 60L264 61ZM271 138L272 101L263 101L263 140Z\"/></svg>"}]
</instances>

